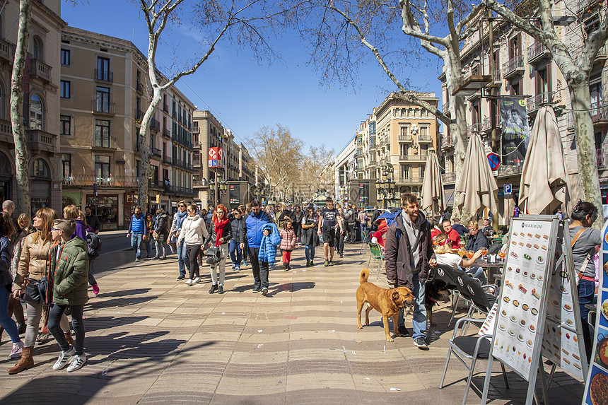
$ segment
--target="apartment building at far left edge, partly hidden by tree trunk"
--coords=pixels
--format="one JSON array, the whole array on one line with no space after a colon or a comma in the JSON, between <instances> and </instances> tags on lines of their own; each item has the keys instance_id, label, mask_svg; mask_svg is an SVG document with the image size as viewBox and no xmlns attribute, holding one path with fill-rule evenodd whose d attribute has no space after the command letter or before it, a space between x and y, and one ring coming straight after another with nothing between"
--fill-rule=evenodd
<instances>
[{"instance_id":1,"label":"apartment building at far left edge, partly hidden by tree trunk","mask_svg":"<svg viewBox=\"0 0 608 405\"><path fill-rule=\"evenodd\" d=\"M0 201L18 201L15 145L9 112L11 71L17 42L19 2L6 2L0 14ZM59 145L59 42L61 1L33 1L30 42L23 78L23 122L28 142L32 212L62 209Z\"/></svg>"}]
</instances>

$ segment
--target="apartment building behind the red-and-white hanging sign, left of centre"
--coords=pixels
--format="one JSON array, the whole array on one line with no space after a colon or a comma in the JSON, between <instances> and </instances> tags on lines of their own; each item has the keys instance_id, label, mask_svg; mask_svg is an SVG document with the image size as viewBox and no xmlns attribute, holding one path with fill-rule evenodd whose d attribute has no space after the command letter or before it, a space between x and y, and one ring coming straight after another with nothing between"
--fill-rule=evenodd
<instances>
[{"instance_id":1,"label":"apartment building behind the red-and-white hanging sign, left of centre","mask_svg":"<svg viewBox=\"0 0 608 405\"><path fill-rule=\"evenodd\" d=\"M209 160L209 148L221 148L221 159ZM194 111L194 189L201 204L236 208L252 199L253 160L210 111Z\"/></svg>"}]
</instances>

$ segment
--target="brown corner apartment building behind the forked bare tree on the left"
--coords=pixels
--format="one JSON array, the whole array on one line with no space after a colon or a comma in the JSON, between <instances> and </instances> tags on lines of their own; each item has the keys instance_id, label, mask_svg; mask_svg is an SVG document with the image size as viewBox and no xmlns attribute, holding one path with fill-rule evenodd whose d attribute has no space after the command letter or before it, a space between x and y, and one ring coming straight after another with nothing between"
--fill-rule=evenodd
<instances>
[{"instance_id":1,"label":"brown corner apartment building behind the forked bare tree on the left","mask_svg":"<svg viewBox=\"0 0 608 405\"><path fill-rule=\"evenodd\" d=\"M137 201L139 129L151 100L144 54L127 40L66 27L60 49L58 117L63 205L92 206L102 229L124 228ZM192 112L175 86L148 133L148 206L173 211L192 199Z\"/></svg>"}]
</instances>

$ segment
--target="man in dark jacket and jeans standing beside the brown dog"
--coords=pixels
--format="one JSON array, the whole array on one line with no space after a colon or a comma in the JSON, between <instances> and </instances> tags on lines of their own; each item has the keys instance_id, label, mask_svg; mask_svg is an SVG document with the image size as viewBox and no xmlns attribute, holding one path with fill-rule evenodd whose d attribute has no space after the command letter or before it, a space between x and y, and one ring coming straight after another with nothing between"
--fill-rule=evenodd
<instances>
[{"instance_id":1,"label":"man in dark jacket and jeans standing beside the brown dog","mask_svg":"<svg viewBox=\"0 0 608 405\"><path fill-rule=\"evenodd\" d=\"M414 303L414 346L428 350L426 346L425 286L428 277L429 259L433 258L431 228L422 213L419 213L418 197L415 194L401 195L402 211L394 218L386 233L385 265L389 284L407 287L416 297ZM399 315L398 330L407 335L403 312Z\"/></svg>"}]
</instances>

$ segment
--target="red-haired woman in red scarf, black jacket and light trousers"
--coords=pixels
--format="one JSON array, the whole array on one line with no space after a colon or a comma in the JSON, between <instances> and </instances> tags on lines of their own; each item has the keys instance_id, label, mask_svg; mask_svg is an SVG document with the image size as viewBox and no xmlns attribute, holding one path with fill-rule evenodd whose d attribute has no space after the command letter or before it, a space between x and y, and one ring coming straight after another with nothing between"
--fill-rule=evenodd
<instances>
[{"instance_id":1,"label":"red-haired woman in red scarf, black jacket and light trousers","mask_svg":"<svg viewBox=\"0 0 608 405\"><path fill-rule=\"evenodd\" d=\"M211 218L211 229L205 240L205 245L209 247L219 247L221 260L219 263L211 264L211 280L213 285L209 290L209 294L216 291L220 294L224 293L224 278L226 277L226 257L228 257L228 242L232 239L232 226L226 214L226 207L222 204L216 206L214 216ZM219 281L217 271L219 270Z\"/></svg>"}]
</instances>

